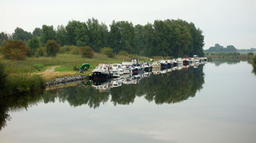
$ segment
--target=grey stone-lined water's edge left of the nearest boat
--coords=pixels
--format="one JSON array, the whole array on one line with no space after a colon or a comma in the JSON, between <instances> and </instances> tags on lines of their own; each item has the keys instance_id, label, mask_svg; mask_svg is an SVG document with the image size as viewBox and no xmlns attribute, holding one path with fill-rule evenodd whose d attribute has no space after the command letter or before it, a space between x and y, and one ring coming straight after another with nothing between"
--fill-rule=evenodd
<instances>
[{"instance_id":1,"label":"grey stone-lined water's edge left of the nearest boat","mask_svg":"<svg viewBox=\"0 0 256 143\"><path fill-rule=\"evenodd\" d=\"M77 75L77 76L66 76L61 78L56 78L55 80L48 81L45 83L45 85L48 86L54 86L54 85L62 85L66 84L68 82L77 82L79 80L88 79L89 76L84 75Z\"/></svg>"}]
</instances>

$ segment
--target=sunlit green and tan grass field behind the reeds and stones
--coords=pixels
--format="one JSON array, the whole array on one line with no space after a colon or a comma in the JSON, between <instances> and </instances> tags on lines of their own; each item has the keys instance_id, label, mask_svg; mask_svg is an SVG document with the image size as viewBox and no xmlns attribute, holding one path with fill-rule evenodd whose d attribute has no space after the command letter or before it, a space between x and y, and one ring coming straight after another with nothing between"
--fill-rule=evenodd
<instances>
[{"instance_id":1,"label":"sunlit green and tan grass field behind the reeds and stones","mask_svg":"<svg viewBox=\"0 0 256 143\"><path fill-rule=\"evenodd\" d=\"M26 61L11 61L0 56L0 61L5 66L5 73L9 73L10 75L32 73L42 76L44 80L50 80L56 77L80 74L78 71L74 71L73 67L80 67L83 63L90 64L90 70L87 72L87 74L90 74L93 68L99 63L120 63L121 61L130 61L130 58L139 58L140 61L149 60L149 58L137 55L116 55L114 58L108 58L106 55L95 53L93 58L81 58L81 55L58 54L55 58L27 58ZM58 67L55 68L54 72L44 72L44 70L52 66Z\"/></svg>"}]
</instances>

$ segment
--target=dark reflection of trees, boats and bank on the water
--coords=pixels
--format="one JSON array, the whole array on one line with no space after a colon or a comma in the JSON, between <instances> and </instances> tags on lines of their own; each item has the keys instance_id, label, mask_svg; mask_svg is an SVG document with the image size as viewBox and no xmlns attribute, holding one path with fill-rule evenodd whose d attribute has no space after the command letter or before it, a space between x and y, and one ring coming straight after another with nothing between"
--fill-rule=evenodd
<instances>
[{"instance_id":1,"label":"dark reflection of trees, boats and bank on the water","mask_svg":"<svg viewBox=\"0 0 256 143\"><path fill-rule=\"evenodd\" d=\"M111 100L114 105L133 103L136 97L157 104L178 103L194 97L203 87L203 64L194 67L173 67L155 70L152 73L125 75L117 79L101 82L83 81L75 86L44 91L44 94L1 97L0 129L6 126L11 117L10 111L26 109L36 103L69 102L70 106L87 105L97 108Z\"/></svg>"}]
</instances>

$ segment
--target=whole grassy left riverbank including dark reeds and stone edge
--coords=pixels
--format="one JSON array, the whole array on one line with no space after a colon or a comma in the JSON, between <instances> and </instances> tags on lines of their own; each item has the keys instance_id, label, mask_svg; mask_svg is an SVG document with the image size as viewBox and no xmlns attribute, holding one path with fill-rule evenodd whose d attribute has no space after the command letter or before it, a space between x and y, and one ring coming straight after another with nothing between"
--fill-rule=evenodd
<instances>
[{"instance_id":1,"label":"whole grassy left riverbank including dark reeds and stone edge","mask_svg":"<svg viewBox=\"0 0 256 143\"><path fill-rule=\"evenodd\" d=\"M95 53L93 58L82 58L81 55L58 54L55 58L40 57L27 58L25 61L11 61L0 55L2 72L0 72L3 85L1 95L31 94L44 90L46 86L65 84L86 79L91 71L100 63L120 63L138 58L140 61L149 61L150 58L138 55L115 55L108 58L106 55ZM80 73L74 67L81 64L90 64L87 73Z\"/></svg>"}]
</instances>

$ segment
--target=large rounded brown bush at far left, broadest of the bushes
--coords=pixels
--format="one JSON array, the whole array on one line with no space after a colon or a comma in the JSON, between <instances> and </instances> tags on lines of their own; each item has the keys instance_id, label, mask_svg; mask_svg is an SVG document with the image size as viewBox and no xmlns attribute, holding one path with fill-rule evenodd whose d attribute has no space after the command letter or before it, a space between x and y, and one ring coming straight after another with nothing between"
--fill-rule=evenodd
<instances>
[{"instance_id":1,"label":"large rounded brown bush at far left, broadest of the bushes","mask_svg":"<svg viewBox=\"0 0 256 143\"><path fill-rule=\"evenodd\" d=\"M3 52L5 58L11 60L25 60L29 48L21 40L9 40L4 43Z\"/></svg>"}]
</instances>

